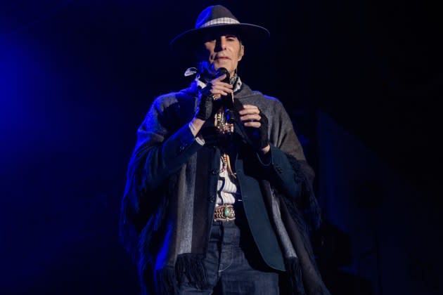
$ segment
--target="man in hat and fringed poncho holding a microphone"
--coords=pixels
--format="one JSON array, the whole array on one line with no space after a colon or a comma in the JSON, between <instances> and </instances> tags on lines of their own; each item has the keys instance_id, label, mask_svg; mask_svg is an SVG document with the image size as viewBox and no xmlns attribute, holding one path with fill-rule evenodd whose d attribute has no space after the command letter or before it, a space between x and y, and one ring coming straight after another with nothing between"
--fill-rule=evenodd
<instances>
[{"instance_id":1,"label":"man in hat and fringed poncho holding a microphone","mask_svg":"<svg viewBox=\"0 0 443 295\"><path fill-rule=\"evenodd\" d=\"M328 294L304 221L319 225L314 173L280 101L237 74L267 37L217 5L172 40L195 53L195 80L153 102L122 199L144 293Z\"/></svg>"}]
</instances>

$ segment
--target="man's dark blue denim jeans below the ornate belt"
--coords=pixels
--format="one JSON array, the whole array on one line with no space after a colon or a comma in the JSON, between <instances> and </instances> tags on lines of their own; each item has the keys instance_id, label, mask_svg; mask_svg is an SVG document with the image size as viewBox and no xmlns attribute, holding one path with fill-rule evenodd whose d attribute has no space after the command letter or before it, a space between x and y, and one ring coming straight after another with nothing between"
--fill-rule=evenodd
<instances>
[{"instance_id":1,"label":"man's dark blue denim jeans below the ornate belt","mask_svg":"<svg viewBox=\"0 0 443 295\"><path fill-rule=\"evenodd\" d=\"M185 279L179 294L278 294L278 272L262 260L242 217L212 224L204 261L207 287L197 289Z\"/></svg>"}]
</instances>

